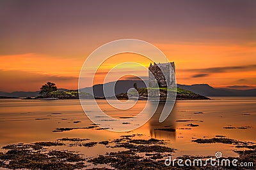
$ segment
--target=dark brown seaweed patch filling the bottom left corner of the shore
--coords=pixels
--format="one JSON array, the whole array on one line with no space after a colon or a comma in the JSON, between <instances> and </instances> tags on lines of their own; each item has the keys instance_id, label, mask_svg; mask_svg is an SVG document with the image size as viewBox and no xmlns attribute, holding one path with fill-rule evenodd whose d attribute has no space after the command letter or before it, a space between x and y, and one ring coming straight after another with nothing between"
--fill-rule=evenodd
<instances>
[{"instance_id":1,"label":"dark brown seaweed patch filling the bottom left corner of the shore","mask_svg":"<svg viewBox=\"0 0 256 170\"><path fill-rule=\"evenodd\" d=\"M8 164L1 161L0 166L8 169L81 169L86 167L83 163L84 159L78 154L56 150L45 152L40 146L49 146L52 143L54 142L4 146L3 148L8 151L0 153L0 160ZM35 146L40 146L40 148L35 148Z\"/></svg>"}]
</instances>

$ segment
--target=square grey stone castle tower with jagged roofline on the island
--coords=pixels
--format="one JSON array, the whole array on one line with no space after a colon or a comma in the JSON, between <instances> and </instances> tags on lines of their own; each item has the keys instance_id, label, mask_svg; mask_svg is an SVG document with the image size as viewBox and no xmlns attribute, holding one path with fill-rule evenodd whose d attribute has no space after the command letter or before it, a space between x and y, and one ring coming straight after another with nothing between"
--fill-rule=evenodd
<instances>
[{"instance_id":1,"label":"square grey stone castle tower with jagged roofline on the island","mask_svg":"<svg viewBox=\"0 0 256 170\"><path fill-rule=\"evenodd\" d=\"M175 84L174 62L161 63L161 64L160 63L156 64L154 62L154 65L150 63L150 66L148 67L149 87L157 87L157 85L159 87L171 87L173 84Z\"/></svg>"}]
</instances>

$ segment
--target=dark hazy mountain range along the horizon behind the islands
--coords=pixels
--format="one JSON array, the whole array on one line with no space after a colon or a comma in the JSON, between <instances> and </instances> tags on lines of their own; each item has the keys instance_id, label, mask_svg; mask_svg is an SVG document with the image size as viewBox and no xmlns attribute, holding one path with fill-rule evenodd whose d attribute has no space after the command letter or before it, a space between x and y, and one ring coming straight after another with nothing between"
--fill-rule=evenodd
<instances>
[{"instance_id":1,"label":"dark hazy mountain range along the horizon behind the islands","mask_svg":"<svg viewBox=\"0 0 256 170\"><path fill-rule=\"evenodd\" d=\"M145 83L142 80L118 80L105 83L106 97L113 96L111 92L111 87L115 85L115 94L121 94L127 92L130 88L133 87L134 83L137 83L138 88L145 88L145 83L148 83L147 80ZM256 96L256 89L250 90L236 90L236 89L225 89L225 88L213 88L207 84L195 84L195 85L177 85L181 89L189 90L200 94L202 96L213 97L213 96ZM103 85L93 85L93 87L84 88L84 92L90 93L93 88L93 93L95 97L104 97L103 94ZM67 91L68 89L59 89ZM0 92L0 96L8 97L36 97L39 95L39 91L36 92Z\"/></svg>"}]
</instances>

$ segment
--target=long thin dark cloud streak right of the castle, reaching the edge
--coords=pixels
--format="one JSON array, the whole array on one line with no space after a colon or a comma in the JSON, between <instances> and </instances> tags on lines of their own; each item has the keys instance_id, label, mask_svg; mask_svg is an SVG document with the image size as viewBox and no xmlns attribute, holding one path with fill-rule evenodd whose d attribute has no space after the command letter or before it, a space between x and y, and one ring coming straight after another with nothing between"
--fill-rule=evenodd
<instances>
[{"instance_id":1,"label":"long thin dark cloud streak right of the castle, reaching the edge","mask_svg":"<svg viewBox=\"0 0 256 170\"><path fill-rule=\"evenodd\" d=\"M227 73L234 71L252 71L255 70L256 64L248 66L227 66L227 67L209 67L203 69L182 69L182 71L195 71L198 73Z\"/></svg>"}]
</instances>

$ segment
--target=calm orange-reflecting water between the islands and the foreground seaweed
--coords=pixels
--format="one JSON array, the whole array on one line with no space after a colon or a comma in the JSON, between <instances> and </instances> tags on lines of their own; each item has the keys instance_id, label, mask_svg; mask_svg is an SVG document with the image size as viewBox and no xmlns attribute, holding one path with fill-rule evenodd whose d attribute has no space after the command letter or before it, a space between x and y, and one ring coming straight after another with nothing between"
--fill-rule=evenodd
<instances>
[{"instance_id":1,"label":"calm orange-reflecting water between the islands and the foreground seaweed","mask_svg":"<svg viewBox=\"0 0 256 170\"><path fill-rule=\"evenodd\" d=\"M79 100L22 100L0 99L0 146L12 143L33 143L52 141L60 138L89 138L91 141L104 141L127 134L143 134L140 138L165 139L166 145L177 148L173 157L179 155L237 156L232 145L198 144L193 138L213 138L216 135L241 141L256 142L256 98L255 97L212 97L205 101L176 101L170 117L159 123L160 105L157 113L142 127L131 132L110 132L96 129L76 129L65 132L52 132L58 127L88 127L93 124L83 113ZM88 101L90 102L90 101ZM145 107L146 101L138 101L129 111L118 111L104 100L98 104L112 117L131 117ZM92 106L93 107L93 106ZM203 112L195 114L195 112ZM81 121L75 124L74 121ZM178 122L177 122L178 120ZM179 122L189 120L189 122ZM198 127L189 127L197 124ZM236 129L223 129L232 126ZM248 127L237 129L237 127ZM176 132L158 131L159 128L175 128ZM185 129L191 128L191 129ZM95 156L118 148L95 146L93 148L72 147L86 156ZM119 148L120 150L120 148Z\"/></svg>"}]
</instances>

